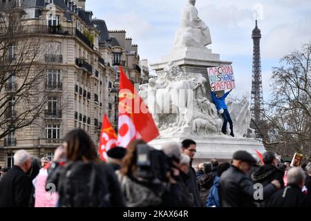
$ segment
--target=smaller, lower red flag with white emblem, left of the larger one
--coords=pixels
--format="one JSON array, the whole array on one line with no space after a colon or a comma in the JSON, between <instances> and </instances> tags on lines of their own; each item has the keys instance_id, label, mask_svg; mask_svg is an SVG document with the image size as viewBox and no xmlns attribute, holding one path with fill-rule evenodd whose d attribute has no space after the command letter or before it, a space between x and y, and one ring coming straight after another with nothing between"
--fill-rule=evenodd
<instances>
[{"instance_id":1,"label":"smaller, lower red flag with white emblem, left of the larger one","mask_svg":"<svg viewBox=\"0 0 311 221\"><path fill-rule=\"evenodd\" d=\"M115 134L115 130L113 130L108 117L104 115L102 130L100 132L100 146L98 147L100 158L104 162L106 162L108 158L107 152L115 146L117 146L117 135Z\"/></svg>"}]
</instances>

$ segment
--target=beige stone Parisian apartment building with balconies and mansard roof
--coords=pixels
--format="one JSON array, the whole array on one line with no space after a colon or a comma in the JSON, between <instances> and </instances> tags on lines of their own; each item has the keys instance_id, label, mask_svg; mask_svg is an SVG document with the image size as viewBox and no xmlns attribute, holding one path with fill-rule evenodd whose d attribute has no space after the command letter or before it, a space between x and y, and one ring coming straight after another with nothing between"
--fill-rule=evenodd
<instances>
[{"instance_id":1,"label":"beige stone Parisian apartment building with balconies and mansard roof","mask_svg":"<svg viewBox=\"0 0 311 221\"><path fill-rule=\"evenodd\" d=\"M1 139L0 166L12 167L12 157L19 149L51 159L62 137L74 128L84 129L97 144L103 115L117 124L117 93L110 93L118 85L117 66L124 67L133 83L142 82L138 46L126 39L125 31L109 32L104 20L93 19L93 13L85 10L85 3L0 1L4 23L12 11L19 10L21 19L14 26L22 26L25 37L39 39L45 77L35 90L42 89L46 96L44 110L32 124ZM124 33L124 40L115 33ZM18 77L14 80L19 81ZM0 95L5 93L3 88ZM17 115L19 105L12 105Z\"/></svg>"}]
</instances>

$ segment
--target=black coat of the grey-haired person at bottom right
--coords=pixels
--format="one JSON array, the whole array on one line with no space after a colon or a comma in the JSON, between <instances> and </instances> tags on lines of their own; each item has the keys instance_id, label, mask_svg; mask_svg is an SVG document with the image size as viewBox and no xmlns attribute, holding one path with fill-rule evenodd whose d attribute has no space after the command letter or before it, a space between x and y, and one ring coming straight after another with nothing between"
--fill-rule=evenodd
<instances>
[{"instance_id":1,"label":"black coat of the grey-haired person at bottom right","mask_svg":"<svg viewBox=\"0 0 311 221\"><path fill-rule=\"evenodd\" d=\"M288 185L274 193L267 202L267 207L301 207L306 205L306 196L301 188L295 185Z\"/></svg>"}]
</instances>

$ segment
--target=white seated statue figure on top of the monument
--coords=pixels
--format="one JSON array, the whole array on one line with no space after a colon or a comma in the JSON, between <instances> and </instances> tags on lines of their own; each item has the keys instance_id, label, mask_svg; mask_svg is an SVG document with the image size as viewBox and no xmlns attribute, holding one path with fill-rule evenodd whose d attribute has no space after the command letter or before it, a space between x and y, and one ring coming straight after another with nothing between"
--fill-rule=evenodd
<instances>
[{"instance_id":1,"label":"white seated statue figure on top of the monument","mask_svg":"<svg viewBox=\"0 0 311 221\"><path fill-rule=\"evenodd\" d=\"M211 44L209 27L198 17L195 5L196 0L189 0L189 4L182 10L180 29L176 33L174 48L202 48Z\"/></svg>"}]
</instances>

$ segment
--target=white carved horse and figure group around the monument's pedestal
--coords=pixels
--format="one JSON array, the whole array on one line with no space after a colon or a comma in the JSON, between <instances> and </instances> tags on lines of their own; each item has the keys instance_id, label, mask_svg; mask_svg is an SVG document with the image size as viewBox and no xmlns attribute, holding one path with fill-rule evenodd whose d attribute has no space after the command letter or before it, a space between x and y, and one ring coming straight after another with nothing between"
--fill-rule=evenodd
<instances>
[{"instance_id":1,"label":"white carved horse and figure group around the monument's pedestal","mask_svg":"<svg viewBox=\"0 0 311 221\"><path fill-rule=\"evenodd\" d=\"M207 79L197 73L185 75L173 62L169 62L164 71L164 76L157 80L151 78L149 84L141 85L139 93L147 102L160 133L221 135L223 117L206 97ZM228 111L232 115L235 133L245 136L249 131L249 102L228 102Z\"/></svg>"}]
</instances>

